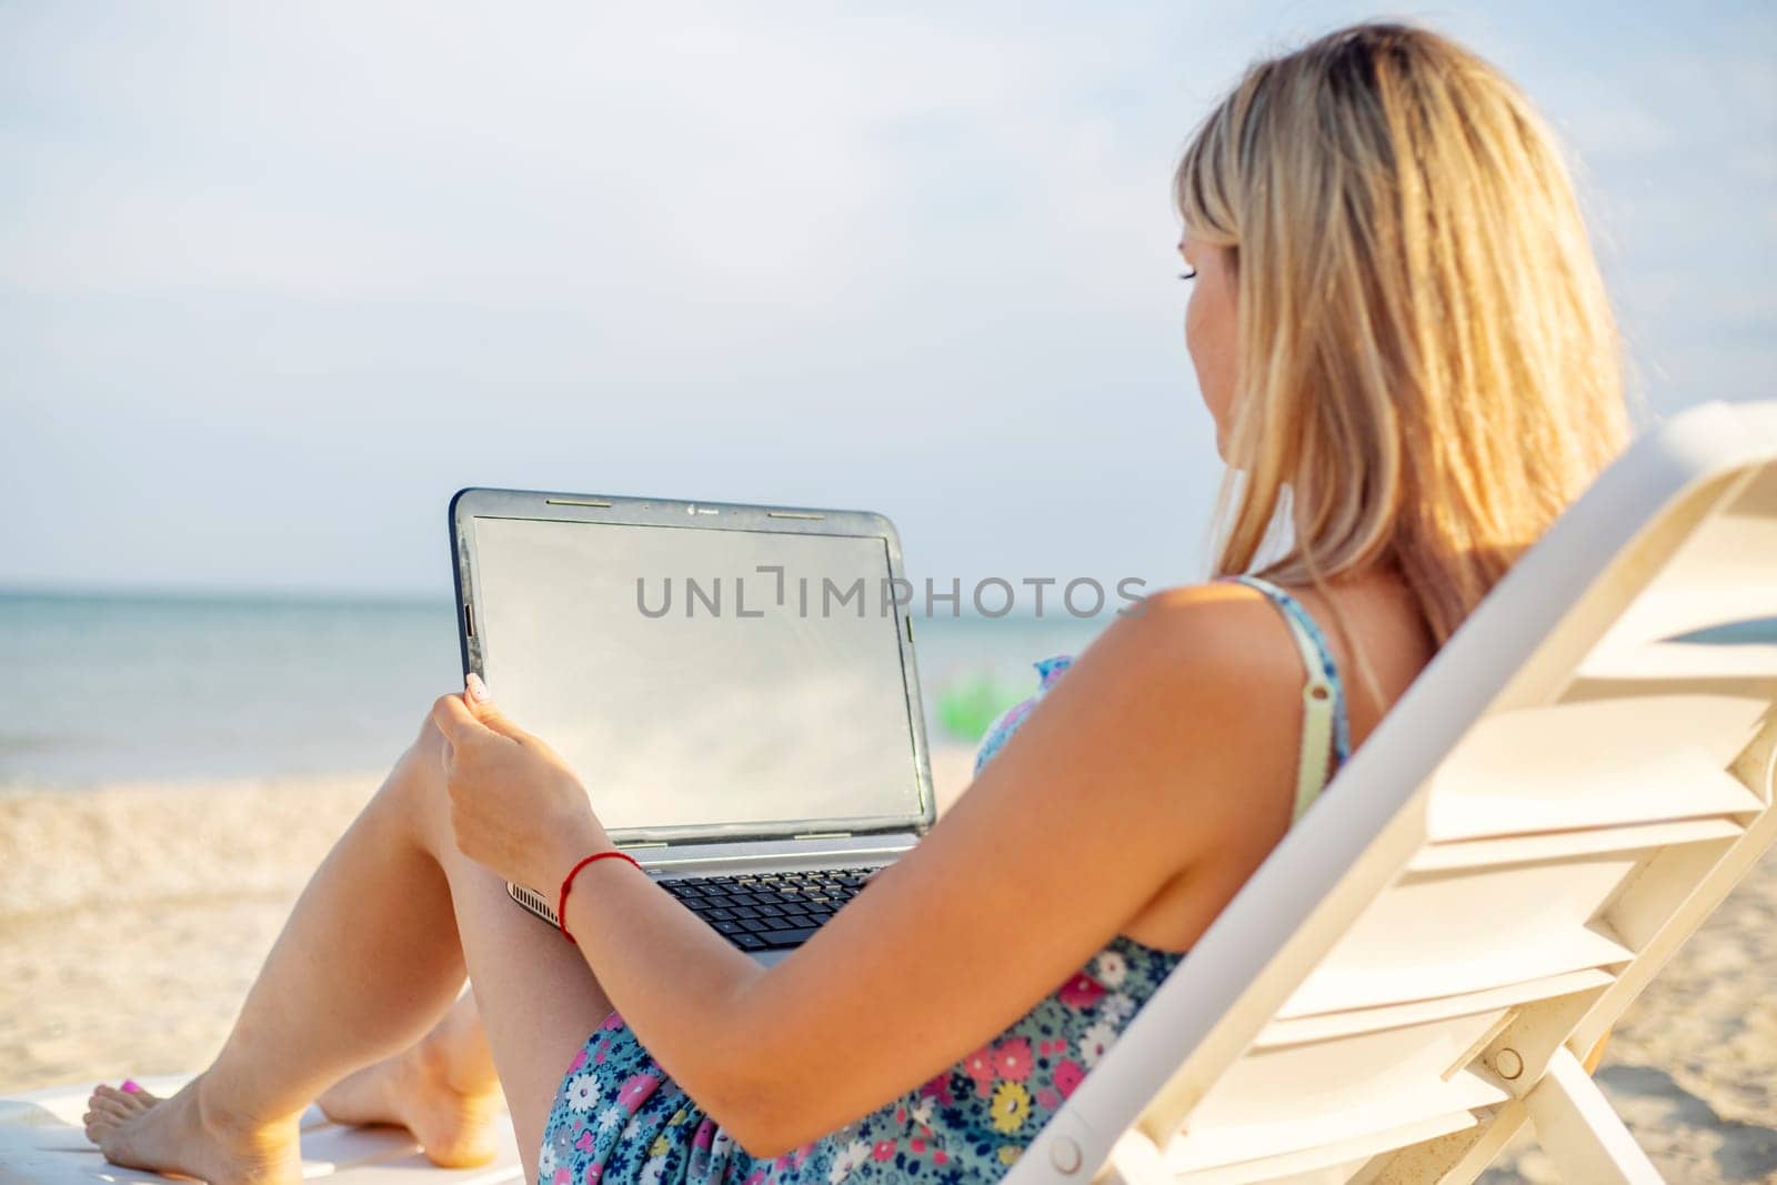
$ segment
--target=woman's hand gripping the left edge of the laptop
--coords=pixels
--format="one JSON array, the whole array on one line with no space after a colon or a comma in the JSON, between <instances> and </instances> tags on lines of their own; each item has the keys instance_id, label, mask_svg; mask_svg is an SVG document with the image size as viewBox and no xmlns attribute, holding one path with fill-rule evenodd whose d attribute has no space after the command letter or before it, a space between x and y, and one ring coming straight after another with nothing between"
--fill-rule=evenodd
<instances>
[{"instance_id":1,"label":"woman's hand gripping the left edge of the laptop","mask_svg":"<svg viewBox=\"0 0 1777 1185\"><path fill-rule=\"evenodd\" d=\"M581 856L613 846L562 755L506 720L476 675L439 696L432 720L466 856L547 897Z\"/></svg>"}]
</instances>

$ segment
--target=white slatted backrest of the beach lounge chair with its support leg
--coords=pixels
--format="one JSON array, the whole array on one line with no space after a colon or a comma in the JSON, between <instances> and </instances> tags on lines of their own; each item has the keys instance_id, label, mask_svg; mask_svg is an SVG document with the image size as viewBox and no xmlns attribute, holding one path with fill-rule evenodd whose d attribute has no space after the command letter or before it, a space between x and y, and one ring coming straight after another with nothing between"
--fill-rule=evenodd
<instances>
[{"instance_id":1,"label":"white slatted backrest of the beach lounge chair with its support leg","mask_svg":"<svg viewBox=\"0 0 1777 1185\"><path fill-rule=\"evenodd\" d=\"M1439 650L1031 1144L1038 1181L1471 1181L1777 837L1777 403L1644 433ZM1768 636L1768 634L1766 634ZM1773 984L1777 988L1777 984Z\"/></svg>"}]
</instances>

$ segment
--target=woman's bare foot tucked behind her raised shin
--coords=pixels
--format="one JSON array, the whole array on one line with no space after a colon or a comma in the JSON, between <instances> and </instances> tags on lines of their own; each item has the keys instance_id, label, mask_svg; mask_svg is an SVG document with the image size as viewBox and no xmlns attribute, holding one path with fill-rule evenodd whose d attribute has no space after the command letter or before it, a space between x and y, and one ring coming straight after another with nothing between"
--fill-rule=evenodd
<instances>
[{"instance_id":1,"label":"woman's bare foot tucked behind her raised shin","mask_svg":"<svg viewBox=\"0 0 1777 1185\"><path fill-rule=\"evenodd\" d=\"M462 1082L460 1061L432 1034L410 1050L343 1078L316 1101L334 1123L393 1123L446 1169L487 1164L499 1151L506 1100L498 1080Z\"/></svg>"}]
</instances>

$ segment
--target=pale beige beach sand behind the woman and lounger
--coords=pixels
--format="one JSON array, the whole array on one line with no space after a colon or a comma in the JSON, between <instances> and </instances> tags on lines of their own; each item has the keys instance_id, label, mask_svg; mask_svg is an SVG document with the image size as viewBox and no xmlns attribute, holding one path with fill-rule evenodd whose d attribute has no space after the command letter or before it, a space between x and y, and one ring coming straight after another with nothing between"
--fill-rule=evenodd
<instances>
[{"instance_id":1,"label":"pale beige beach sand behind the woman and lounger","mask_svg":"<svg viewBox=\"0 0 1777 1185\"><path fill-rule=\"evenodd\" d=\"M935 757L940 803L967 771ZM0 792L0 1093L206 1064L375 785ZM1637 1000L1598 1078L1669 1181L1777 1180L1777 858ZM1484 1180L1557 1178L1523 1139Z\"/></svg>"}]
</instances>

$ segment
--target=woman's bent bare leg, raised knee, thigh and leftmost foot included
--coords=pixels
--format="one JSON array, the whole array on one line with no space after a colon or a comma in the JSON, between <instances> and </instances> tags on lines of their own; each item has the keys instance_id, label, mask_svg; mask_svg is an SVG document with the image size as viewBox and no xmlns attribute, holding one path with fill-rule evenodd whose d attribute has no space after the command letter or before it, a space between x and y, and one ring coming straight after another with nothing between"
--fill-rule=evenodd
<instances>
[{"instance_id":1,"label":"woman's bent bare leg, raised knee, thigh and leftmost foot included","mask_svg":"<svg viewBox=\"0 0 1777 1185\"><path fill-rule=\"evenodd\" d=\"M467 966L535 1174L556 1086L611 1006L578 949L457 851L441 746L426 725L329 853L210 1070L151 1107L94 1093L87 1132L108 1158L210 1181L295 1181L307 1103L419 1041Z\"/></svg>"}]
</instances>

